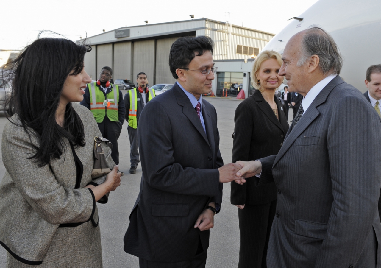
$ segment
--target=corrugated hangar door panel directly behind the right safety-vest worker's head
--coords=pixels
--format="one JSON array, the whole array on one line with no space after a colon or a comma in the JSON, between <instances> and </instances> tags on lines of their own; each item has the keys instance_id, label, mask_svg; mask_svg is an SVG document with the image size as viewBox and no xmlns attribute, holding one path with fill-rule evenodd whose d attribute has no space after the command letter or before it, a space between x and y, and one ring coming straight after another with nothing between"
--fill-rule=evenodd
<instances>
[{"instance_id":1,"label":"corrugated hangar door panel directly behind the right safety-vest worker's head","mask_svg":"<svg viewBox=\"0 0 381 268\"><path fill-rule=\"evenodd\" d=\"M149 85L153 86L155 84L155 40L134 42L133 55L134 77L139 72L145 72Z\"/></svg>"}]
</instances>

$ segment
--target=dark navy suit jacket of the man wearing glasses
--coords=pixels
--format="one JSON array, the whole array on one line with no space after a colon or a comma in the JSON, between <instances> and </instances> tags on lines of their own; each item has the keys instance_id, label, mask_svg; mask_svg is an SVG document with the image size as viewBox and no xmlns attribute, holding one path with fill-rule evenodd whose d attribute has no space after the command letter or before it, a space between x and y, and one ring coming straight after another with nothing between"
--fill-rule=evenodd
<instances>
[{"instance_id":1,"label":"dark navy suit jacket of the man wearing glasses","mask_svg":"<svg viewBox=\"0 0 381 268\"><path fill-rule=\"evenodd\" d=\"M202 100L206 134L197 112L175 83L144 106L138 125L141 189L130 215L125 252L155 262L193 258L209 230L194 228L210 202L222 203L223 165L215 108Z\"/></svg>"}]
</instances>

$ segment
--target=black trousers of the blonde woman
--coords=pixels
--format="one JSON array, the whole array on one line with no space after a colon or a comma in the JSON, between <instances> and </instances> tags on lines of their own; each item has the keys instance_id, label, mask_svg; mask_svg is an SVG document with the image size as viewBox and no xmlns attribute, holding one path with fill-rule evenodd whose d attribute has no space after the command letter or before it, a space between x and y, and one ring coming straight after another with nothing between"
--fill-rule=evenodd
<instances>
[{"instance_id":1,"label":"black trousers of the blonde woman","mask_svg":"<svg viewBox=\"0 0 381 268\"><path fill-rule=\"evenodd\" d=\"M238 209L240 249L238 268L266 268L267 246L277 201L245 204Z\"/></svg>"}]
</instances>

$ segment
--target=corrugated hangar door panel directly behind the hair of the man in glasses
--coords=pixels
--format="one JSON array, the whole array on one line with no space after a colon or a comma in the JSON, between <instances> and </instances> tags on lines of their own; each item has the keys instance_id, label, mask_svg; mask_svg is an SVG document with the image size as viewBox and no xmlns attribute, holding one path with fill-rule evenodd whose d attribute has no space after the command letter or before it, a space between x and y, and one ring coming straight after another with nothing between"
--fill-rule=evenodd
<instances>
[{"instance_id":1,"label":"corrugated hangar door panel directly behind the hair of the man in glasses","mask_svg":"<svg viewBox=\"0 0 381 268\"><path fill-rule=\"evenodd\" d=\"M175 82L169 69L169 51L178 37L159 39L156 41L156 81L158 83L171 84Z\"/></svg>"}]
</instances>

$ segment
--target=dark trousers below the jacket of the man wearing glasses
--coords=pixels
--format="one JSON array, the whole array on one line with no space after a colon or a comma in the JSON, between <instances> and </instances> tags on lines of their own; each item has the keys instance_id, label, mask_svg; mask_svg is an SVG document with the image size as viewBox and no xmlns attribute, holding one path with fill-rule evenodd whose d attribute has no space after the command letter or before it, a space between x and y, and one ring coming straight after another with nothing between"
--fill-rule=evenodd
<instances>
[{"instance_id":1,"label":"dark trousers below the jacket of the man wearing glasses","mask_svg":"<svg viewBox=\"0 0 381 268\"><path fill-rule=\"evenodd\" d=\"M182 262L151 262L139 258L140 268L205 268L206 263L207 252L203 251L201 240L199 240L199 247L197 249L196 255L191 260Z\"/></svg>"}]
</instances>

